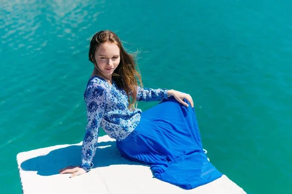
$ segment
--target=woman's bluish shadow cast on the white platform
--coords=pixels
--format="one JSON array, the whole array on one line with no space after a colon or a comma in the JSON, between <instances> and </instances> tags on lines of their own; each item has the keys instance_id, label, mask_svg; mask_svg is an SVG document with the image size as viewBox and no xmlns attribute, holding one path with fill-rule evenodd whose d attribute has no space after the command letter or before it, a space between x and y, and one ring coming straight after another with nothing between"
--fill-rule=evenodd
<instances>
[{"instance_id":1,"label":"woman's bluish shadow cast on the white platform","mask_svg":"<svg viewBox=\"0 0 292 194\"><path fill-rule=\"evenodd\" d=\"M58 170L69 165L79 165L80 162L81 145L73 145L58 148L48 154L25 160L20 164L20 167L24 171L37 171L37 175L40 176L52 176L59 174ZM92 169L120 164L145 165L123 158L116 147L115 141L98 143Z\"/></svg>"}]
</instances>

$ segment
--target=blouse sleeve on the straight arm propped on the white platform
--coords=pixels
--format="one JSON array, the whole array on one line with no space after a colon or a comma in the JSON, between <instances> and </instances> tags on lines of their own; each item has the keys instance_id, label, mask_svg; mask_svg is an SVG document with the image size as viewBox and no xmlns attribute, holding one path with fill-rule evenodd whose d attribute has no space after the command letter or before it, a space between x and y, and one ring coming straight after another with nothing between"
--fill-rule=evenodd
<instances>
[{"instance_id":1,"label":"blouse sleeve on the straight arm propped on the white platform","mask_svg":"<svg viewBox=\"0 0 292 194\"><path fill-rule=\"evenodd\" d=\"M93 83L84 94L87 110L86 132L81 149L81 164L86 172L93 167L93 157L97 147L98 129L105 112L106 95L104 89Z\"/></svg>"}]
</instances>

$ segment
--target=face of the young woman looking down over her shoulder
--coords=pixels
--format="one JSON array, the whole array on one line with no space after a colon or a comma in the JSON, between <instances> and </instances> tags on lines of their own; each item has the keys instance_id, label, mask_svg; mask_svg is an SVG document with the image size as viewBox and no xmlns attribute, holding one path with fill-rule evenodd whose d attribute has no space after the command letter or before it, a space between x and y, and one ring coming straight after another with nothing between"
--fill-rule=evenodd
<instances>
[{"instance_id":1,"label":"face of the young woman looking down over her shoulder","mask_svg":"<svg viewBox=\"0 0 292 194\"><path fill-rule=\"evenodd\" d=\"M111 75L120 63L120 49L114 43L105 42L95 52L95 61L104 75Z\"/></svg>"}]
</instances>

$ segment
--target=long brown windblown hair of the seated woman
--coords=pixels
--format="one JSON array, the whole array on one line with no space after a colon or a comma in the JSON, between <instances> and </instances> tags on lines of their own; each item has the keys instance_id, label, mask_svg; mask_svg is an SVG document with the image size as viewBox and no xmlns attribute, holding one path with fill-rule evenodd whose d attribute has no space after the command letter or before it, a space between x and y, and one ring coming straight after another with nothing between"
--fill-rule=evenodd
<instances>
[{"instance_id":1,"label":"long brown windblown hair of the seated woman","mask_svg":"<svg viewBox=\"0 0 292 194\"><path fill-rule=\"evenodd\" d=\"M100 31L93 35L90 41L89 60L96 64L94 55L99 46L105 42L114 43L120 49L120 63L112 73L112 80L116 82L119 88L124 89L128 96L128 108L137 107L137 86L143 87L141 74L136 64L136 53L128 53L120 38L111 31ZM139 81L139 84L138 84Z\"/></svg>"}]
</instances>

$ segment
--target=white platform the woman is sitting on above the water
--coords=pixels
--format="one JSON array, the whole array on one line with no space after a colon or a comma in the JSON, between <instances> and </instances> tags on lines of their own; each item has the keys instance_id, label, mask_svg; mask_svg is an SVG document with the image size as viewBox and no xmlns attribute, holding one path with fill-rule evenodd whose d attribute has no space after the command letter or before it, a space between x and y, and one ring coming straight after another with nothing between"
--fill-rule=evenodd
<instances>
[{"instance_id":1,"label":"white platform the woman is sitting on above the water","mask_svg":"<svg viewBox=\"0 0 292 194\"><path fill-rule=\"evenodd\" d=\"M246 194L229 178L221 178L192 190L153 178L149 166L121 157L115 140L99 137L94 167L69 178L58 170L78 165L82 142L21 152L17 155L24 194Z\"/></svg>"}]
</instances>

